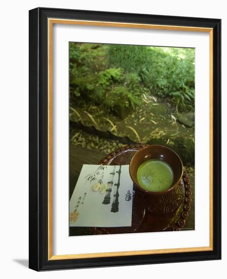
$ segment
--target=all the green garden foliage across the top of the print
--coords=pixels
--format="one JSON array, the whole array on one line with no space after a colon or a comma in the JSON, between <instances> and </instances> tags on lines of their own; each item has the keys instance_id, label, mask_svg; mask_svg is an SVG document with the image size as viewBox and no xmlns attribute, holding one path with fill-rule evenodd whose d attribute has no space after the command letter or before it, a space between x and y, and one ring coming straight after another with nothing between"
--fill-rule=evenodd
<instances>
[{"instance_id":1,"label":"all the green garden foliage across the top of the print","mask_svg":"<svg viewBox=\"0 0 227 279\"><path fill-rule=\"evenodd\" d=\"M141 94L194 109L194 49L70 43L71 100L132 111Z\"/></svg>"}]
</instances>

